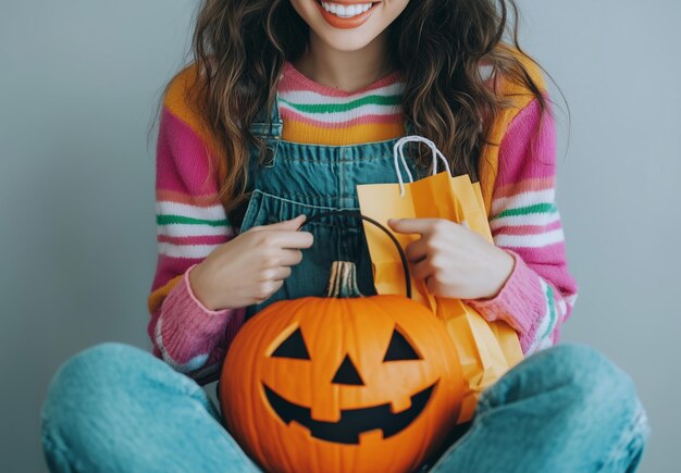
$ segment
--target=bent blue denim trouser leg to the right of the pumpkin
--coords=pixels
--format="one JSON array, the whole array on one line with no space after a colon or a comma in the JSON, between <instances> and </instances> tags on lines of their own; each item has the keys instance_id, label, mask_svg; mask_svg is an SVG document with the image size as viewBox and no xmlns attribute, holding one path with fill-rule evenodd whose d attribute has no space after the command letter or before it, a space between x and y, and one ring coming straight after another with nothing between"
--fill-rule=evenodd
<instances>
[{"instance_id":1,"label":"bent blue denim trouser leg to the right of the pumpkin","mask_svg":"<svg viewBox=\"0 0 681 473\"><path fill-rule=\"evenodd\" d=\"M484 391L433 471L633 472L648 434L631 378L589 347L559 345Z\"/></svg>"}]
</instances>

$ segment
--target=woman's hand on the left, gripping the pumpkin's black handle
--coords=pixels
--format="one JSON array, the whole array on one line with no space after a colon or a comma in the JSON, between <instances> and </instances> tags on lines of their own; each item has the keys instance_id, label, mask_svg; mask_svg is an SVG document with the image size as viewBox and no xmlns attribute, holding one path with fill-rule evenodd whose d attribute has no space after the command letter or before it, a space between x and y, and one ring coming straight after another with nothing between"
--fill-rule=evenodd
<instances>
[{"instance_id":1,"label":"woman's hand on the left, gripping the pumpkin's black handle","mask_svg":"<svg viewBox=\"0 0 681 473\"><path fill-rule=\"evenodd\" d=\"M222 244L189 272L194 295L210 310L235 309L270 298L312 246L299 232L304 214L272 225L255 226Z\"/></svg>"}]
</instances>

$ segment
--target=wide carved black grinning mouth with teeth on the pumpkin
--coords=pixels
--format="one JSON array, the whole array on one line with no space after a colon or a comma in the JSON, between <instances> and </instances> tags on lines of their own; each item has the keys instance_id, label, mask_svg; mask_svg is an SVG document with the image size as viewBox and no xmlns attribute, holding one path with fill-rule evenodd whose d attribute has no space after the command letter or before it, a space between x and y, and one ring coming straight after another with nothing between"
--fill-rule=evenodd
<instances>
[{"instance_id":1,"label":"wide carved black grinning mouth with teeth on the pumpkin","mask_svg":"<svg viewBox=\"0 0 681 473\"><path fill-rule=\"evenodd\" d=\"M265 396L272 409L286 425L295 421L307 427L310 435L320 440L337 444L359 444L359 434L380 428L383 438L388 438L405 430L425 408L437 382L420 393L411 396L411 407L398 413L391 412L391 404L385 403L373 408L346 409L340 411L338 422L315 421L310 409L295 404L282 398L264 383Z\"/></svg>"}]
</instances>

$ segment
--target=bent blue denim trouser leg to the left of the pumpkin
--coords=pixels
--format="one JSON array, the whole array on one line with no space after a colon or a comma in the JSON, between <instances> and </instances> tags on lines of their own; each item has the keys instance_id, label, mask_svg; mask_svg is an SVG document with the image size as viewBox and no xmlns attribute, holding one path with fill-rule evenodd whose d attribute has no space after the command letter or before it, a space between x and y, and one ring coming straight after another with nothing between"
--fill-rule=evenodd
<instances>
[{"instance_id":1,"label":"bent blue denim trouser leg to the left of the pumpkin","mask_svg":"<svg viewBox=\"0 0 681 473\"><path fill-rule=\"evenodd\" d=\"M121 344L60 368L42 408L42 447L57 472L258 471L198 384Z\"/></svg>"}]
</instances>

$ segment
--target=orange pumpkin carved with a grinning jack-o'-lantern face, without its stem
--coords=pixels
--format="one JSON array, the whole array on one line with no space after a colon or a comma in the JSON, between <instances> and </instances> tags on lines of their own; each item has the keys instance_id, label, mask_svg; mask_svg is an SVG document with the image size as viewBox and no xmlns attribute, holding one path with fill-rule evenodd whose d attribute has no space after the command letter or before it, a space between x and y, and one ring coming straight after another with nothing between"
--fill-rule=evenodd
<instances>
[{"instance_id":1,"label":"orange pumpkin carved with a grinning jack-o'-lantern face, without its stem","mask_svg":"<svg viewBox=\"0 0 681 473\"><path fill-rule=\"evenodd\" d=\"M234 339L230 432L269 471L408 471L454 426L463 393L442 323L400 296L276 302Z\"/></svg>"}]
</instances>

